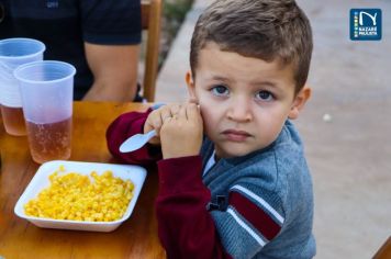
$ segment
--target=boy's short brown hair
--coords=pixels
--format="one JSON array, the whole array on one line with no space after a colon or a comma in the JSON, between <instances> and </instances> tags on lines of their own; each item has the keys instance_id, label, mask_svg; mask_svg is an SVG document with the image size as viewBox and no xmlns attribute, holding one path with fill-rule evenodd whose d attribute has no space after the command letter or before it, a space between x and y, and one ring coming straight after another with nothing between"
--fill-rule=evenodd
<instances>
[{"instance_id":1,"label":"boy's short brown hair","mask_svg":"<svg viewBox=\"0 0 391 259\"><path fill-rule=\"evenodd\" d=\"M196 78L200 50L209 42L221 50L292 65L295 93L305 85L313 48L310 21L294 0L216 0L200 15L191 38Z\"/></svg>"}]
</instances>

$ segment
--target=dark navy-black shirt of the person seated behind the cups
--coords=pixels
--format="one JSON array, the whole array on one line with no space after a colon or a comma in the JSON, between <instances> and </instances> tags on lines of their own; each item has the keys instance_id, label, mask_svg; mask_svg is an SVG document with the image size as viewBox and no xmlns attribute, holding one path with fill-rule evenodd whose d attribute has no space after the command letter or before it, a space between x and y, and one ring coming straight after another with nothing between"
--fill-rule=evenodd
<instances>
[{"instance_id":1,"label":"dark navy-black shirt of the person seated behind the cups","mask_svg":"<svg viewBox=\"0 0 391 259\"><path fill-rule=\"evenodd\" d=\"M44 59L72 64L75 100L90 89L93 76L83 42L102 45L141 42L139 0L0 0L4 14L0 40L31 37L46 45Z\"/></svg>"}]
</instances>

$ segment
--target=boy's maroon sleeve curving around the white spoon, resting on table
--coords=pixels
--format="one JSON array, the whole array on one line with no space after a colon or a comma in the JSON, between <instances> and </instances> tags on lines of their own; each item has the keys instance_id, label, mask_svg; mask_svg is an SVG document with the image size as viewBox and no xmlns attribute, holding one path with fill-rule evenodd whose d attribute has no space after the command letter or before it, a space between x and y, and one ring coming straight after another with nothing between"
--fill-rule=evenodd
<instances>
[{"instance_id":1,"label":"boy's maroon sleeve curving around the white spoon, resting on table","mask_svg":"<svg viewBox=\"0 0 391 259\"><path fill-rule=\"evenodd\" d=\"M161 158L160 147L148 144L132 153L120 151L120 146L126 138L143 132L145 121L150 112L152 109L146 112L124 113L109 125L105 138L109 151L113 157L124 162L143 166Z\"/></svg>"}]
</instances>

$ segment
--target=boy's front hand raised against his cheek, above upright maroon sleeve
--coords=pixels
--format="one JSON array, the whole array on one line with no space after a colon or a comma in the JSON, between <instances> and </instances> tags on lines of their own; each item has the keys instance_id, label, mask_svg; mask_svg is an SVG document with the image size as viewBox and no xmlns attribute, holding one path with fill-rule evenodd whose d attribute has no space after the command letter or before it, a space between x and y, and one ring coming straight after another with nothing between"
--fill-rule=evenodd
<instances>
[{"instance_id":1,"label":"boy's front hand raised against his cheek, above upright maroon sleeve","mask_svg":"<svg viewBox=\"0 0 391 259\"><path fill-rule=\"evenodd\" d=\"M194 103L185 103L179 112L164 120L160 130L164 159L196 156L202 144L202 117Z\"/></svg>"}]
</instances>

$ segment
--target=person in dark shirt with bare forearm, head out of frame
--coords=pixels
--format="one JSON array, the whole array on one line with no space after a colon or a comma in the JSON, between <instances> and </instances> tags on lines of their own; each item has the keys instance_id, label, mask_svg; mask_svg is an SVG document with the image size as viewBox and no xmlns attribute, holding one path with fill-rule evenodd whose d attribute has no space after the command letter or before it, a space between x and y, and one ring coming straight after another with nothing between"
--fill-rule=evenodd
<instances>
[{"instance_id":1,"label":"person in dark shirt with bare forearm, head out of frame","mask_svg":"<svg viewBox=\"0 0 391 259\"><path fill-rule=\"evenodd\" d=\"M75 100L139 101L139 0L0 0L0 38L31 37L72 64Z\"/></svg>"}]
</instances>

